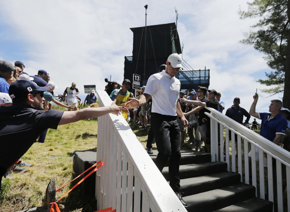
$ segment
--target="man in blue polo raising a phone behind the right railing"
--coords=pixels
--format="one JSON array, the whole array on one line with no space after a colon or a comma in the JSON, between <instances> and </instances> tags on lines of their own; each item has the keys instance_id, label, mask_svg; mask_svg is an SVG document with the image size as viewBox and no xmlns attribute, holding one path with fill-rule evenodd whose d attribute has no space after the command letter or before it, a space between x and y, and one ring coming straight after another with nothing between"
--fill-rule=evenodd
<instances>
[{"instance_id":1,"label":"man in blue polo raising a phone behind the right railing","mask_svg":"<svg viewBox=\"0 0 290 212\"><path fill-rule=\"evenodd\" d=\"M279 145L283 143L285 137L285 131L287 128L287 120L281 115L280 110L282 108L282 102L280 100L271 100L269 106L270 113L256 112L256 104L258 102L258 94L253 96L253 103L250 108L250 115L257 119L262 119L260 135L267 138L269 141ZM252 151L252 150L251 150ZM249 157L252 156L251 151ZM259 150L256 148L256 160L259 160Z\"/></svg>"}]
</instances>

